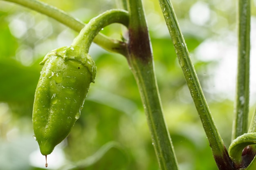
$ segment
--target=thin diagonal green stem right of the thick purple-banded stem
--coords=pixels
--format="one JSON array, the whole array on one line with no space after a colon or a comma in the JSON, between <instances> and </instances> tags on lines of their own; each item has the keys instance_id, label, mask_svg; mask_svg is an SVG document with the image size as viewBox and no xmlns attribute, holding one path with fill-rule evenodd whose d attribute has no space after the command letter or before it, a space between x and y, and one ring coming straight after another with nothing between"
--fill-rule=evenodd
<instances>
[{"instance_id":1,"label":"thin diagonal green stem right of the thick purple-banded stem","mask_svg":"<svg viewBox=\"0 0 256 170\"><path fill-rule=\"evenodd\" d=\"M207 135L217 166L220 170L232 170L234 169L232 161L211 116L211 112L202 92L195 68L191 62L185 40L182 32L180 31L180 26L177 22L172 4L168 0L159 0L159 4L161 6L162 13L164 14L180 66L184 73L195 107L202 121L202 125Z\"/></svg>"}]
</instances>

